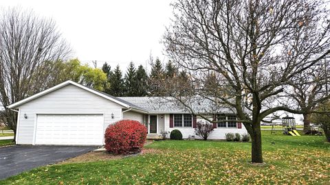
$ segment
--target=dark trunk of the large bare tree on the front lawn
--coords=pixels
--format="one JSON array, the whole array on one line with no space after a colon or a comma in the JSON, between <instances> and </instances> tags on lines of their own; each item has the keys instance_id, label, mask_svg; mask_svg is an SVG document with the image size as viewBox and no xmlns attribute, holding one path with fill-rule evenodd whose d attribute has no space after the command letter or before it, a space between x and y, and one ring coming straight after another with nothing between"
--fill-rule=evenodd
<instances>
[{"instance_id":1,"label":"dark trunk of the large bare tree on the front lawn","mask_svg":"<svg viewBox=\"0 0 330 185\"><path fill-rule=\"evenodd\" d=\"M252 161L254 163L263 163L263 151L261 147L261 128L260 123L254 124L252 128L251 140L252 140Z\"/></svg>"}]
</instances>

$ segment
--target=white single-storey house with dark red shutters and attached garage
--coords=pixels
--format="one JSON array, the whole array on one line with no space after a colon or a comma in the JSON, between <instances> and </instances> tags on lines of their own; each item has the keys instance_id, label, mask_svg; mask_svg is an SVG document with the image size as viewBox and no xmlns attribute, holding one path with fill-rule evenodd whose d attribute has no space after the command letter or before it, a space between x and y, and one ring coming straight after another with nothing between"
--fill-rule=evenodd
<instances>
[{"instance_id":1,"label":"white single-storey house with dark red shutters and attached garage","mask_svg":"<svg viewBox=\"0 0 330 185\"><path fill-rule=\"evenodd\" d=\"M197 108L208 106L199 103ZM199 119L160 97L113 97L72 81L8 106L19 112L16 143L19 145L103 145L108 125L122 119L148 126L148 136L180 130L184 138L195 135ZM229 118L227 118L227 116ZM217 119L234 119L223 112ZM241 123L214 123L210 139L224 139L225 133L247 133Z\"/></svg>"}]
</instances>

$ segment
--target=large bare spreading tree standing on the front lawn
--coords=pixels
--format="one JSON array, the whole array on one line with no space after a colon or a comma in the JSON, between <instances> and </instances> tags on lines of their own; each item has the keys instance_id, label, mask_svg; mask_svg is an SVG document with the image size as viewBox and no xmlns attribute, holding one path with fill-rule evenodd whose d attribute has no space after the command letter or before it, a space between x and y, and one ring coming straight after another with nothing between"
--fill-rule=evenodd
<instances>
[{"instance_id":1,"label":"large bare spreading tree standing on the front lawn","mask_svg":"<svg viewBox=\"0 0 330 185\"><path fill-rule=\"evenodd\" d=\"M203 116L191 107L198 97L232 108L252 138L252 162L261 163L261 120L278 110L302 114L288 106L285 89L329 57L325 7L318 0L179 0L164 45L191 84L159 84L192 114ZM214 96L202 83L209 72L219 79Z\"/></svg>"}]
</instances>

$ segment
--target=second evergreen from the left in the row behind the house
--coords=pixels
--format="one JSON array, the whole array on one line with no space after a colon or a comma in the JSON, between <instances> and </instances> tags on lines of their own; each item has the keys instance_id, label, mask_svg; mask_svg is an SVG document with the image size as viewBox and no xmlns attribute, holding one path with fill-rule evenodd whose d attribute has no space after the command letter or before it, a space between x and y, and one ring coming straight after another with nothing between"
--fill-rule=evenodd
<instances>
[{"instance_id":1,"label":"second evergreen from the left in the row behind the house","mask_svg":"<svg viewBox=\"0 0 330 185\"><path fill-rule=\"evenodd\" d=\"M120 71L119 65L117 65L113 73L111 73L109 82L111 83L109 95L121 97L123 95L122 87L124 86L124 81L122 79L122 71Z\"/></svg>"}]
</instances>

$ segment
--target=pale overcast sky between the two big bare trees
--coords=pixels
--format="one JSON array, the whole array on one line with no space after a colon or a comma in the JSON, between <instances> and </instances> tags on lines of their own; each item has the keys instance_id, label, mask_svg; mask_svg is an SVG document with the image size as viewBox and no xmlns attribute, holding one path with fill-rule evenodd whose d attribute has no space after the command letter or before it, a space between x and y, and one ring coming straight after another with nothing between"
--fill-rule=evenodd
<instances>
[{"instance_id":1,"label":"pale overcast sky between the two big bare trees","mask_svg":"<svg viewBox=\"0 0 330 185\"><path fill-rule=\"evenodd\" d=\"M1 0L1 7L20 6L54 18L75 58L125 70L131 61L145 66L151 53L165 59L159 41L172 15L170 2Z\"/></svg>"}]
</instances>

